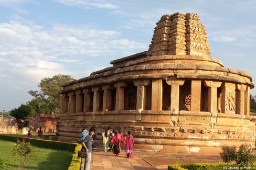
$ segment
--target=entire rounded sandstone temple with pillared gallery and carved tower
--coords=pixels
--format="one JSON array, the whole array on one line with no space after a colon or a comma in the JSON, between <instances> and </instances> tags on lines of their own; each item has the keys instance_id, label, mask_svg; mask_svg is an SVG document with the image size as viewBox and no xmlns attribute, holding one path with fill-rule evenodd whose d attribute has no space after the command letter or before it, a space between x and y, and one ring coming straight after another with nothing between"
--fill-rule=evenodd
<instances>
[{"instance_id":1,"label":"entire rounded sandstone temple with pillared gallery and carved tower","mask_svg":"<svg viewBox=\"0 0 256 170\"><path fill-rule=\"evenodd\" d=\"M63 85L59 141L77 142L93 126L96 144L110 127L154 152L218 154L253 143L252 78L211 58L197 14L162 16L149 47Z\"/></svg>"}]
</instances>

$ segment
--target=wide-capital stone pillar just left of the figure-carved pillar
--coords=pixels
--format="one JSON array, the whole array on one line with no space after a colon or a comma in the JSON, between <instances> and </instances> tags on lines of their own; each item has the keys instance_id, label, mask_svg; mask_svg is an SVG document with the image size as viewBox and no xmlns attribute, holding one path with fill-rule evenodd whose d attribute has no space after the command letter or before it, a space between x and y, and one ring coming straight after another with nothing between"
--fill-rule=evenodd
<instances>
[{"instance_id":1,"label":"wide-capital stone pillar just left of the figure-carved pillar","mask_svg":"<svg viewBox=\"0 0 256 170\"><path fill-rule=\"evenodd\" d=\"M204 85L208 87L208 111L212 116L217 116L217 87L222 82L204 81Z\"/></svg>"}]
</instances>

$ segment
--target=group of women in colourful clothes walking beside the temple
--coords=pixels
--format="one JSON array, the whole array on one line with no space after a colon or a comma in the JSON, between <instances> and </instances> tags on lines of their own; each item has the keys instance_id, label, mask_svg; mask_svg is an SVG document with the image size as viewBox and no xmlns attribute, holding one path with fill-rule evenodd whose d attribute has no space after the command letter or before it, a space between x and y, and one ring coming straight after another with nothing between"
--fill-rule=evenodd
<instances>
[{"instance_id":1,"label":"group of women in colourful clothes walking beside the temple","mask_svg":"<svg viewBox=\"0 0 256 170\"><path fill-rule=\"evenodd\" d=\"M113 154L118 156L121 151L121 144L123 143L125 145L124 148L126 156L132 157L134 140L133 136L131 135L131 131L128 131L127 133L128 135L124 137L121 129L119 129L118 131L113 130L111 132L110 128L106 128L105 132L102 133L103 151L113 151Z\"/></svg>"}]
</instances>

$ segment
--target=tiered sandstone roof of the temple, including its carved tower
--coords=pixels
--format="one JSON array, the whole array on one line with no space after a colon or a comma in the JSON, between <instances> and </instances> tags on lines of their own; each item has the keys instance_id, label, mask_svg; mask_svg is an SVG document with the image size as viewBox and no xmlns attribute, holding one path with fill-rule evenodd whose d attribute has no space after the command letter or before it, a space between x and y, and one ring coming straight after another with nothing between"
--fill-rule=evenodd
<instances>
[{"instance_id":1,"label":"tiered sandstone roof of the temple, including its carved tower","mask_svg":"<svg viewBox=\"0 0 256 170\"><path fill-rule=\"evenodd\" d=\"M205 26L197 14L175 13L156 23L148 51L113 60L111 67L66 83L60 93L120 81L153 78L175 80L218 80L254 87L247 72L229 69L211 58Z\"/></svg>"}]
</instances>

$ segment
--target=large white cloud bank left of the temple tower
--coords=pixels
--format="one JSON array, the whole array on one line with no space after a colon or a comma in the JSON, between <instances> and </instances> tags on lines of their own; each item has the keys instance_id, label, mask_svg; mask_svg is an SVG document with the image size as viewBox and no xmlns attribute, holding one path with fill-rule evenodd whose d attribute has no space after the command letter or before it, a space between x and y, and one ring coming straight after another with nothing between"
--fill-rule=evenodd
<instances>
[{"instance_id":1,"label":"large white cloud bank left of the temple tower","mask_svg":"<svg viewBox=\"0 0 256 170\"><path fill-rule=\"evenodd\" d=\"M23 77L28 82L72 73L67 67L86 63L89 56L123 56L148 45L119 39L120 32L114 30L58 24L45 30L31 22L24 24L18 21L0 23L0 35L1 70L6 74L12 73L11 77ZM5 74L0 76L6 77Z\"/></svg>"}]
</instances>

